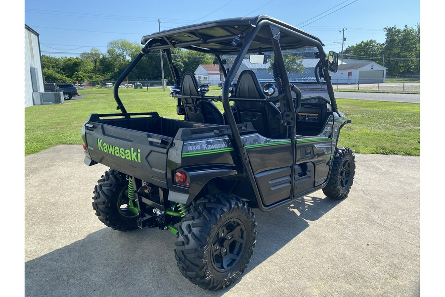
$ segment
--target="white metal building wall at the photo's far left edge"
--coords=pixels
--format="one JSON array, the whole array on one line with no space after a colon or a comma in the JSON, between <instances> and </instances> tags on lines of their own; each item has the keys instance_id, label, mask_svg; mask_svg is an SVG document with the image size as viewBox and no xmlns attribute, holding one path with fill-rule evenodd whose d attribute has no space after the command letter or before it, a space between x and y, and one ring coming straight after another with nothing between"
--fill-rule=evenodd
<instances>
[{"instance_id":1,"label":"white metal building wall at the photo's far left edge","mask_svg":"<svg viewBox=\"0 0 445 297\"><path fill-rule=\"evenodd\" d=\"M33 92L45 92L39 33L25 24L25 107L33 105Z\"/></svg>"}]
</instances>

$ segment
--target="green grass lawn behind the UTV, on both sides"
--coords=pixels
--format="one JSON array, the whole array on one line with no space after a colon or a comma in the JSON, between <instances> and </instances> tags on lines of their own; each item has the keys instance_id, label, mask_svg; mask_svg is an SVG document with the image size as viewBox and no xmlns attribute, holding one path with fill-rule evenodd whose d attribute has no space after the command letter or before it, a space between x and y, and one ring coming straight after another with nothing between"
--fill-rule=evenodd
<instances>
[{"instance_id":1,"label":"green grass lawn behind the UTV, on both sides","mask_svg":"<svg viewBox=\"0 0 445 297\"><path fill-rule=\"evenodd\" d=\"M60 144L81 145L81 128L90 113L120 113L112 89L79 90L85 98L63 104L25 108L25 155ZM181 119L177 100L169 89L120 89L128 112L157 111L161 116ZM212 96L221 92L214 88ZM352 124L340 133L340 146L356 153L420 155L420 104L337 99L338 108ZM220 102L217 105L222 109Z\"/></svg>"}]
</instances>

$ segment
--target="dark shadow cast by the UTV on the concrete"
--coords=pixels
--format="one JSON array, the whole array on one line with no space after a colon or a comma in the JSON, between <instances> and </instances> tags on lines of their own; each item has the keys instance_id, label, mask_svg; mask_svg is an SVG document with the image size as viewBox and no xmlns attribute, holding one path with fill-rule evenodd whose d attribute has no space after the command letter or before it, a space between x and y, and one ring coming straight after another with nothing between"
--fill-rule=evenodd
<instances>
[{"instance_id":1,"label":"dark shadow cast by the UTV on the concrete","mask_svg":"<svg viewBox=\"0 0 445 297\"><path fill-rule=\"evenodd\" d=\"M315 195L318 193L321 191ZM243 276L339 202L320 194L306 197L304 204L298 200L270 212L254 210L257 245ZM200 297L222 296L233 289L232 286L207 292L185 279L176 266L175 239L170 232L157 229L100 229L85 239L25 262L25 296Z\"/></svg>"}]
</instances>

